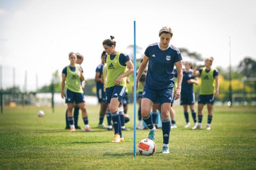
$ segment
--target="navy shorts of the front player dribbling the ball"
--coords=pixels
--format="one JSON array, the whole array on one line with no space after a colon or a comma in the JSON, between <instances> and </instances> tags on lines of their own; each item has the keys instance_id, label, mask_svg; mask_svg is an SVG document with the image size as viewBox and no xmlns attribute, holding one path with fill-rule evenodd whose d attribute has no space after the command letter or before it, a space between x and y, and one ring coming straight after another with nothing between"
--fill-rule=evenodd
<instances>
[{"instance_id":1,"label":"navy shorts of the front player dribbling the ball","mask_svg":"<svg viewBox=\"0 0 256 170\"><path fill-rule=\"evenodd\" d=\"M157 98L159 98L159 103L162 105L163 103L173 103L173 87L166 88L161 90L155 90L144 87L144 91L142 93L142 98L148 98L153 103L157 102Z\"/></svg>"}]
</instances>

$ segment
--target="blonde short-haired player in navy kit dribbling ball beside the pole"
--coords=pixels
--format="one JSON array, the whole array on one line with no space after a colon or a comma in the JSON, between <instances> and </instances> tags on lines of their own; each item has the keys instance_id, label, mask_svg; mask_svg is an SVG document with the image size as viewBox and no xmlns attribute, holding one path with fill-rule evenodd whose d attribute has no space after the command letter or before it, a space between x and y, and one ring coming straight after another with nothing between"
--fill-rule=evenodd
<instances>
[{"instance_id":1,"label":"blonde short-haired player in navy kit dribbling ball beside the pole","mask_svg":"<svg viewBox=\"0 0 256 170\"><path fill-rule=\"evenodd\" d=\"M163 154L169 154L169 135L171 130L170 110L172 101L180 97L180 88L182 82L181 54L178 48L169 45L172 38L170 27L163 27L159 31L160 42L151 44L145 51L145 57L140 64L136 83L145 69L147 63L148 71L146 84L142 94L141 115L143 121L149 128L148 138L155 139L156 128L153 125L150 110L156 99L159 98L161 104L161 118L163 131ZM173 92L173 66L177 67L178 85ZM175 98L174 98L175 97Z\"/></svg>"}]
</instances>

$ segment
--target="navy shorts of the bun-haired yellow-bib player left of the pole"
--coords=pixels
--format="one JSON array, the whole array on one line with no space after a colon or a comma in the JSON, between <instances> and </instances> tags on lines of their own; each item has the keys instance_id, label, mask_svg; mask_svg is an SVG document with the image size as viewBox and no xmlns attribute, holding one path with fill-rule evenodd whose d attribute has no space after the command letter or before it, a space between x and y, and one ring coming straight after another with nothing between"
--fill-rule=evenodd
<instances>
[{"instance_id":1,"label":"navy shorts of the bun-haired yellow-bib player left of the pole","mask_svg":"<svg viewBox=\"0 0 256 170\"><path fill-rule=\"evenodd\" d=\"M114 86L106 88L106 104L110 103L111 98L118 98L118 101L122 103L123 97L125 95L125 87Z\"/></svg>"}]
</instances>

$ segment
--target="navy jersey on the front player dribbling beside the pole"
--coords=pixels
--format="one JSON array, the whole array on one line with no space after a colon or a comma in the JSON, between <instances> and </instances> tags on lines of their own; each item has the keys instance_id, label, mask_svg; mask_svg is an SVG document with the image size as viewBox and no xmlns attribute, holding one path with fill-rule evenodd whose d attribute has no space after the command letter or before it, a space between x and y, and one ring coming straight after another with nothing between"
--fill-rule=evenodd
<instances>
[{"instance_id":1,"label":"navy jersey on the front player dribbling beside the pole","mask_svg":"<svg viewBox=\"0 0 256 170\"><path fill-rule=\"evenodd\" d=\"M174 87L173 66L182 60L179 49L170 45L161 50L155 43L147 47L145 55L149 58L145 86L156 90Z\"/></svg>"}]
</instances>

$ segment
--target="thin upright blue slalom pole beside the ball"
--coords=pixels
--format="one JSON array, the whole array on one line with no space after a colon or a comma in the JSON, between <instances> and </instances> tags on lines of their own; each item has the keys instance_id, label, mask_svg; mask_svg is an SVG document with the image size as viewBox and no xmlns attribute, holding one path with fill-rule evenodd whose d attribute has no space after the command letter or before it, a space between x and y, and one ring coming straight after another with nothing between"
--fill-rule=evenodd
<instances>
[{"instance_id":1,"label":"thin upright blue slalom pole beside the ball","mask_svg":"<svg viewBox=\"0 0 256 170\"><path fill-rule=\"evenodd\" d=\"M136 21L133 21L133 31L134 31L134 45L133 45L133 157L136 157Z\"/></svg>"}]
</instances>

